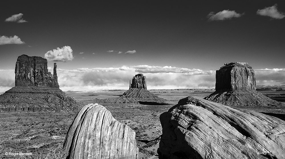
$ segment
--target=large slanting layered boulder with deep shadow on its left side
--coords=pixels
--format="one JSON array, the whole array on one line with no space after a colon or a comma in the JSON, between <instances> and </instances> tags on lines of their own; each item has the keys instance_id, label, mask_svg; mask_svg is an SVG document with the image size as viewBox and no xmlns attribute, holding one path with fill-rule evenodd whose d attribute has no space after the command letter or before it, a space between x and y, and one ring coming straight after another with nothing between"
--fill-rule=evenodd
<instances>
[{"instance_id":1,"label":"large slanting layered boulder with deep shadow on its left side","mask_svg":"<svg viewBox=\"0 0 285 159\"><path fill-rule=\"evenodd\" d=\"M285 158L285 121L272 116L189 96L160 122L162 158Z\"/></svg>"}]
</instances>

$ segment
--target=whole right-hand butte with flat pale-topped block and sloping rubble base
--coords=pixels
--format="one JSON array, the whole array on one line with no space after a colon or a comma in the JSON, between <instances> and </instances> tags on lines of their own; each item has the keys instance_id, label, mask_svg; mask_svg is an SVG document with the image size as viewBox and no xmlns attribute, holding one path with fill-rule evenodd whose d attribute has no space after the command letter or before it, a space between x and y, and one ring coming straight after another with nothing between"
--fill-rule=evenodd
<instances>
[{"instance_id":1,"label":"whole right-hand butte with flat pale-topped block and sloping rubble base","mask_svg":"<svg viewBox=\"0 0 285 159\"><path fill-rule=\"evenodd\" d=\"M216 71L215 92L204 99L228 106L283 105L257 92L255 86L255 73L248 63L225 63Z\"/></svg>"}]
</instances>

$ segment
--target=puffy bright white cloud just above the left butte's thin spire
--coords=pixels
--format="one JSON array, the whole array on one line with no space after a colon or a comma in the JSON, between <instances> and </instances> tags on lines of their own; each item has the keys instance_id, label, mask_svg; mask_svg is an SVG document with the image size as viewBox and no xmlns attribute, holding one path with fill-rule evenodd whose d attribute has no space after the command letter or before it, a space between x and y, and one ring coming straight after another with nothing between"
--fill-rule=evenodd
<instances>
[{"instance_id":1,"label":"puffy bright white cloud just above the left butte's thin spire","mask_svg":"<svg viewBox=\"0 0 285 159\"><path fill-rule=\"evenodd\" d=\"M44 58L48 61L69 62L73 60L72 49L70 46L64 46L62 48L58 47L57 49L46 52Z\"/></svg>"}]
</instances>

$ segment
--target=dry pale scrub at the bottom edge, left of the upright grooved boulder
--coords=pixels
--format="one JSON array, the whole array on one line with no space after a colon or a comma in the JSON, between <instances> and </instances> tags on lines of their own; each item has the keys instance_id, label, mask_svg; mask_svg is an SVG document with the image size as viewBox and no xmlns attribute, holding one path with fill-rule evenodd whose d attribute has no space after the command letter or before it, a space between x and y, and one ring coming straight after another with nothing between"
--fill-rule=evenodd
<instances>
[{"instance_id":1,"label":"dry pale scrub at the bottom edge, left of the upright grooved boulder","mask_svg":"<svg viewBox=\"0 0 285 159\"><path fill-rule=\"evenodd\" d=\"M28 149L27 153L32 152ZM32 155L19 155L15 159L65 159L67 154L62 149L62 145L54 145L53 147L41 150L39 153L32 152Z\"/></svg>"}]
</instances>

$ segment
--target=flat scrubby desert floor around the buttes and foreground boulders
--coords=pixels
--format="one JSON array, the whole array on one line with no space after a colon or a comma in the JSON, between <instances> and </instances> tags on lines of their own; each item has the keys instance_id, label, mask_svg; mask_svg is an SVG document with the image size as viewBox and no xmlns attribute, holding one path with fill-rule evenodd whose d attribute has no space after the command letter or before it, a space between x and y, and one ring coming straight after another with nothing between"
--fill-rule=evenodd
<instances>
[{"instance_id":1,"label":"flat scrubby desert floor around the buttes and foreground boulders","mask_svg":"<svg viewBox=\"0 0 285 159\"><path fill-rule=\"evenodd\" d=\"M82 102L83 105L96 103L96 99L118 97L126 90L101 92L74 92L66 94ZM159 116L178 103L182 98L196 96L204 98L213 90L177 89L150 90L155 95L168 100L166 105L144 104L103 104L119 122L127 124L136 132L140 158L157 158L162 127ZM261 92L272 99L284 102L284 92ZM285 120L285 108L274 107L239 107L267 113ZM68 128L76 114L55 112L0 112L0 158L7 158L5 152L50 151L62 147ZM11 156L8 156L11 157Z\"/></svg>"}]
</instances>

